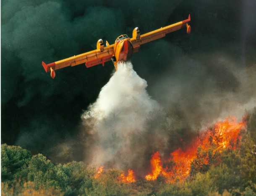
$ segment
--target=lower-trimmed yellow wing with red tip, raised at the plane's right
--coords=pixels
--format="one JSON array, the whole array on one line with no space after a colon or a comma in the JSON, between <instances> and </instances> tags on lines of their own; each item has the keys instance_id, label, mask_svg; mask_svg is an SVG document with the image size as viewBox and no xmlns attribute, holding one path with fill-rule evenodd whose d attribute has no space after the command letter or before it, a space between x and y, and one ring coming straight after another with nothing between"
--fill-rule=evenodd
<instances>
[{"instance_id":1,"label":"lower-trimmed yellow wing with red tip, raised at the plane's right","mask_svg":"<svg viewBox=\"0 0 256 196\"><path fill-rule=\"evenodd\" d=\"M161 27L157 30L154 31L150 31L149 33L146 34L142 34L140 36L140 38L132 38L131 42L133 44L133 48L134 48L134 52L138 51L138 48L141 44L146 44L150 41L156 40L156 39L160 39L162 37L164 37L166 34L169 34L173 31L177 31L183 27L187 28L187 33L190 34L191 32L191 27L188 25L188 22L190 22L190 14L188 15L188 19L184 20L184 21L180 21L178 23L174 23L171 24L169 26L165 26L165 27Z\"/></svg>"}]
</instances>

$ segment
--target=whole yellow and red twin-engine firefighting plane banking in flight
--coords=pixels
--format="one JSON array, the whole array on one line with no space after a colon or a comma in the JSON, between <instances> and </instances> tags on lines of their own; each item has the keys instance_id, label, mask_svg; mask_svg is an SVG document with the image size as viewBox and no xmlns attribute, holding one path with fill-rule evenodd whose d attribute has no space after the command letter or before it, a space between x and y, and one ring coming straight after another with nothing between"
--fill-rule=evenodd
<instances>
[{"instance_id":1,"label":"whole yellow and red twin-engine firefighting plane banking in flight","mask_svg":"<svg viewBox=\"0 0 256 196\"><path fill-rule=\"evenodd\" d=\"M173 31L177 31L183 27L186 27L187 34L191 32L191 26L188 23L191 21L190 15L188 19L180 21L178 23L171 24L169 26L161 27L157 30L150 31L149 33L142 34L138 27L133 29L133 37L129 38L127 35L120 35L116 40L115 44L109 44L106 41L106 46L103 44L103 40L97 41L97 49L83 54L74 55L67 59L52 62L46 64L42 61L42 66L45 72L50 72L52 78L55 78L55 70L59 70L68 66L76 66L78 64L85 63L86 67L92 67L97 64L104 66L105 62L112 60L115 70L118 69L118 62L127 61L130 59L131 54L138 52L138 49L142 44L146 44L150 41L160 39L166 34Z\"/></svg>"}]
</instances>

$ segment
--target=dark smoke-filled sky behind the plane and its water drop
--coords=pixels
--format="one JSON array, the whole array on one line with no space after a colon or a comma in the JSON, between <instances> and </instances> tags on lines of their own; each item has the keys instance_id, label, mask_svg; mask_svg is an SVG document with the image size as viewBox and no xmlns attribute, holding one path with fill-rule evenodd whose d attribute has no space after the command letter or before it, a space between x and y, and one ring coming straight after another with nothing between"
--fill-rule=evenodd
<instances>
[{"instance_id":1,"label":"dark smoke-filled sky behind the plane and its water drop","mask_svg":"<svg viewBox=\"0 0 256 196\"><path fill-rule=\"evenodd\" d=\"M95 127L84 122L84 115L113 80L112 62L90 69L67 67L52 80L42 60L50 63L95 49L100 38L112 43L120 34L131 36L136 26L144 34L189 13L190 35L185 29L168 34L141 46L132 57L141 85L147 83L141 92L161 108L143 129L155 133L157 122L167 126L171 119L166 136L170 150L184 145L178 137L189 141L216 119L240 117L256 105L256 1L2 0L1 142L44 153L56 162L94 160L91 146L101 140L91 137ZM120 85L114 88L124 90ZM152 108L144 107L145 119L138 120L148 122L146 113ZM144 141L146 136L138 137ZM157 141L148 139L152 145Z\"/></svg>"}]
</instances>

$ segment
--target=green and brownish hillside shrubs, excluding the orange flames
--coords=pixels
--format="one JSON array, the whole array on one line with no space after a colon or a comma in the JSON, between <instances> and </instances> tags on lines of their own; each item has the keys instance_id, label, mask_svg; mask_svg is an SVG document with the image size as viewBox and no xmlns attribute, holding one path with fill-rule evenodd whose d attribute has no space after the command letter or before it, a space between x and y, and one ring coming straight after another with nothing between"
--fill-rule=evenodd
<instances>
[{"instance_id":1,"label":"green and brownish hillside shrubs, excluding the orange flames","mask_svg":"<svg viewBox=\"0 0 256 196\"><path fill-rule=\"evenodd\" d=\"M1 146L2 195L148 195L148 196L256 196L256 112L248 117L240 148L227 149L209 164L197 168L194 160L189 177L183 182L166 183L159 175L155 181L138 178L122 183L122 171L109 169L95 178L96 168L83 162L54 164L42 154L31 155L19 146ZM211 154L209 150L209 155ZM198 150L200 153L200 149ZM221 162L216 164L214 159Z\"/></svg>"}]
</instances>

